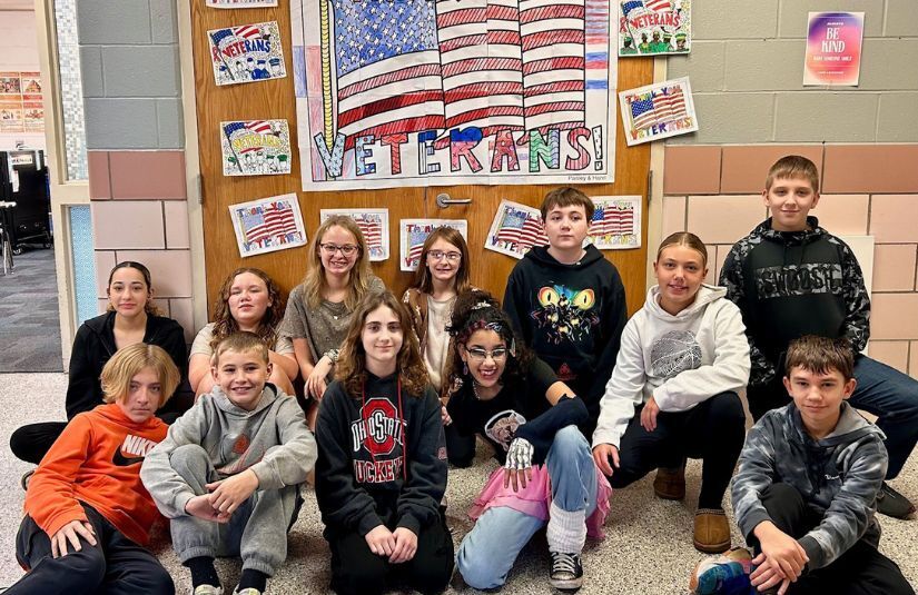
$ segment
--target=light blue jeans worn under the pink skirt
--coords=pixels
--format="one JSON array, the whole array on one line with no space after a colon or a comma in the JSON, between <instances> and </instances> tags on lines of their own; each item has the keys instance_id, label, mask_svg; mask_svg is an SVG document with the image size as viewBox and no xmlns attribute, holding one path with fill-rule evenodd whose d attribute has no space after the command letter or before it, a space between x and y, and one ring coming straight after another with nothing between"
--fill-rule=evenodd
<instances>
[{"instance_id":1,"label":"light blue jeans worn under the pink skirt","mask_svg":"<svg viewBox=\"0 0 918 595\"><path fill-rule=\"evenodd\" d=\"M590 445L576 426L555 434L545 466L552 479L553 503L563 510L585 509L589 518L596 508L596 470ZM471 587L500 587L520 551L545 524L506 506L488 508L460 544L456 568Z\"/></svg>"}]
</instances>

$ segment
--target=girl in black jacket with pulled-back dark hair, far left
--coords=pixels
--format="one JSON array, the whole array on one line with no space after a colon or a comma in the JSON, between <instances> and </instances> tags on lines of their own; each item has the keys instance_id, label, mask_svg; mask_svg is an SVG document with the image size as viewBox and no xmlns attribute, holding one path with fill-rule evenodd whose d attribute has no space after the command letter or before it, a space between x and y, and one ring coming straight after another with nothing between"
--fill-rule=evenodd
<instances>
[{"instance_id":1,"label":"girl in black jacket with pulled-back dark hair, far left","mask_svg":"<svg viewBox=\"0 0 918 595\"><path fill-rule=\"evenodd\" d=\"M176 393L178 398L170 399L167 408L157 413L164 422L171 423L190 405L188 351L181 325L159 316L159 309L152 303L150 271L140 262L117 264L108 276L106 294L108 311L80 325L73 339L65 401L67 419L102 405L99 377L115 351L146 343L165 349L181 373L181 384ZM10 437L10 449L18 458L38 465L66 425L65 422L47 422L22 426Z\"/></svg>"}]
</instances>

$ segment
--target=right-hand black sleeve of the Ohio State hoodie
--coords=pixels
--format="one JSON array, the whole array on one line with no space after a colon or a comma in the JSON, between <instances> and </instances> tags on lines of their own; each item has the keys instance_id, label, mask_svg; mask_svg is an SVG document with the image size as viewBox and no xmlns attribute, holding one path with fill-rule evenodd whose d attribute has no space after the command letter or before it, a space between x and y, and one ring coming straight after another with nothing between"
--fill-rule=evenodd
<instances>
[{"instance_id":1,"label":"right-hand black sleeve of the Ohio State hoodie","mask_svg":"<svg viewBox=\"0 0 918 595\"><path fill-rule=\"evenodd\" d=\"M412 398L412 397L409 397ZM409 432L408 480L398 495L398 526L415 535L422 526L430 525L440 514L440 502L446 492L446 459L441 458L443 422L440 417L440 399L433 387L427 386L422 403L416 404L415 416L409 420L415 430ZM411 426L408 429L412 429Z\"/></svg>"}]
</instances>

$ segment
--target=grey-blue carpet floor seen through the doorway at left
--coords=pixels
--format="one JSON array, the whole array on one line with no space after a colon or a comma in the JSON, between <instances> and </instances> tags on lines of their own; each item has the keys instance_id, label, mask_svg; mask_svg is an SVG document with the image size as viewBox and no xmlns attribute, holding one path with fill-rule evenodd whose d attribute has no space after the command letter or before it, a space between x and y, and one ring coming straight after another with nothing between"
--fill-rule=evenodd
<instances>
[{"instance_id":1,"label":"grey-blue carpet floor seen through the doorway at left","mask_svg":"<svg viewBox=\"0 0 918 595\"><path fill-rule=\"evenodd\" d=\"M24 248L0 275L0 373L62 371L55 251Z\"/></svg>"}]
</instances>

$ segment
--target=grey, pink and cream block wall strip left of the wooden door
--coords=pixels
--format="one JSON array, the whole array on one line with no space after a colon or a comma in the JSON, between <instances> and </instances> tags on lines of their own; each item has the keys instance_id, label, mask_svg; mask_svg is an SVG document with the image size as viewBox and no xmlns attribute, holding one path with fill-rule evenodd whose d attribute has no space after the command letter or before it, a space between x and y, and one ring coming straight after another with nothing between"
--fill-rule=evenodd
<instances>
[{"instance_id":1,"label":"grey, pink and cream block wall strip left of the wooden door","mask_svg":"<svg viewBox=\"0 0 918 595\"><path fill-rule=\"evenodd\" d=\"M80 0L99 311L116 262L149 267L157 304L190 343L191 250L178 20L170 0Z\"/></svg>"}]
</instances>

